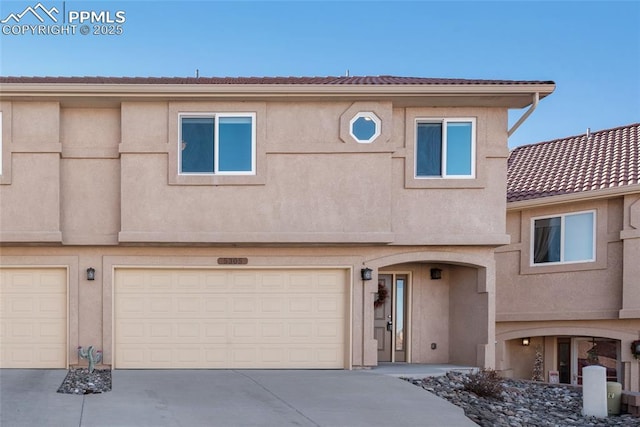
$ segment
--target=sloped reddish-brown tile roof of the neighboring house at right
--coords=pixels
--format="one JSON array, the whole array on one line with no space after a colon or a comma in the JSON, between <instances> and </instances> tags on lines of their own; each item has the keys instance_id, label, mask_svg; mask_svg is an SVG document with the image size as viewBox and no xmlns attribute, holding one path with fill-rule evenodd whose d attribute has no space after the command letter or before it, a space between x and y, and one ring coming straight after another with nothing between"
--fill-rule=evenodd
<instances>
[{"instance_id":1,"label":"sloped reddish-brown tile roof of the neighboring house at right","mask_svg":"<svg viewBox=\"0 0 640 427\"><path fill-rule=\"evenodd\" d=\"M640 184L640 123L511 151L507 201Z\"/></svg>"}]
</instances>

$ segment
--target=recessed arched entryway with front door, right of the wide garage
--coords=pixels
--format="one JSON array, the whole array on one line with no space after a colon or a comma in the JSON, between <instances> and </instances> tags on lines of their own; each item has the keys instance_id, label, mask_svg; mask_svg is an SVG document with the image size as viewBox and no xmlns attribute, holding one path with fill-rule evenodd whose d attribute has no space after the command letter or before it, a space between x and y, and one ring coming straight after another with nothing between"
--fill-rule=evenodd
<instances>
[{"instance_id":1,"label":"recessed arched entryway with front door, right of the wide garage","mask_svg":"<svg viewBox=\"0 0 640 427\"><path fill-rule=\"evenodd\" d=\"M415 252L373 260L368 266L376 267L371 297L365 302L370 314L365 334L371 334L375 345L373 364L493 366L492 259Z\"/></svg>"}]
</instances>

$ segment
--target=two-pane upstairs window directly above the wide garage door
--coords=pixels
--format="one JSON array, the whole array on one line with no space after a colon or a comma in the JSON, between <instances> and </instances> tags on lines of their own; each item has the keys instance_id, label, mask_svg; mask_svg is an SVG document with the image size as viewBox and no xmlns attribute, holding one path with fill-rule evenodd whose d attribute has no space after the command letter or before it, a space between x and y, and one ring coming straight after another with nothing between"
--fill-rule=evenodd
<instances>
[{"instance_id":1,"label":"two-pane upstairs window directly above the wide garage door","mask_svg":"<svg viewBox=\"0 0 640 427\"><path fill-rule=\"evenodd\" d=\"M255 175L255 113L181 114L179 172Z\"/></svg>"}]
</instances>

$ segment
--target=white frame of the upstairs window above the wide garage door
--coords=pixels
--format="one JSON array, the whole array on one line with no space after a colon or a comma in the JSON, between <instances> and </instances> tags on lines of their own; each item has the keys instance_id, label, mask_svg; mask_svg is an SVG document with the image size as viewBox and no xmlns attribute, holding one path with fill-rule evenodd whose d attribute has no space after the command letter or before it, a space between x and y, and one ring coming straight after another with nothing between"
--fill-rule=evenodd
<instances>
[{"instance_id":1,"label":"white frame of the upstairs window above the wide garage door","mask_svg":"<svg viewBox=\"0 0 640 427\"><path fill-rule=\"evenodd\" d=\"M220 135L219 117L250 117L251 118L251 170L250 171L220 171L218 155L218 135ZM213 141L213 172L182 172L182 119L183 118L211 118L214 123ZM251 112L220 112L220 113L179 113L178 114L178 175L184 176L236 176L256 174L256 113Z\"/></svg>"}]
</instances>

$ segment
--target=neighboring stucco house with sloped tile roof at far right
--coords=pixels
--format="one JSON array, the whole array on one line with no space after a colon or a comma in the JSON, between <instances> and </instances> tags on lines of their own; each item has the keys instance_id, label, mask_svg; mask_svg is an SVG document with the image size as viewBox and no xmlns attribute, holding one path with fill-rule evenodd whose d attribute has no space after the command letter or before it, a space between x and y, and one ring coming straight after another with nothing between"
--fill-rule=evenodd
<instances>
[{"instance_id":1,"label":"neighboring stucco house with sloped tile roof at far right","mask_svg":"<svg viewBox=\"0 0 640 427\"><path fill-rule=\"evenodd\" d=\"M496 365L581 384L598 362L640 389L640 124L514 149L496 250ZM525 340L525 341L523 341ZM528 344L525 346L524 344ZM554 372L555 373L555 372Z\"/></svg>"}]
</instances>

